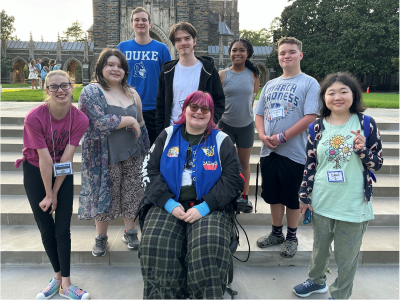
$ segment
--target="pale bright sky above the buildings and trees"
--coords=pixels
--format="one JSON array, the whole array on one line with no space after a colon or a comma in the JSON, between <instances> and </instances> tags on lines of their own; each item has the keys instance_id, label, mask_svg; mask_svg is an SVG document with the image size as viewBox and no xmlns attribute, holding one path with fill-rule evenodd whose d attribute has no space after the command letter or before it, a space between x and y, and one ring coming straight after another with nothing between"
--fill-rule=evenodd
<instances>
[{"instance_id":1,"label":"pale bright sky above the buildings and trees","mask_svg":"<svg viewBox=\"0 0 400 300\"><path fill-rule=\"evenodd\" d=\"M239 29L268 28L281 15L287 0L238 0ZM15 17L15 33L21 41L57 41L57 34L73 22L83 23L86 31L93 23L92 0L3 0L0 9ZM14 35L15 35L14 33Z\"/></svg>"}]
</instances>

